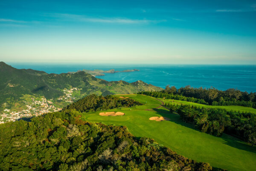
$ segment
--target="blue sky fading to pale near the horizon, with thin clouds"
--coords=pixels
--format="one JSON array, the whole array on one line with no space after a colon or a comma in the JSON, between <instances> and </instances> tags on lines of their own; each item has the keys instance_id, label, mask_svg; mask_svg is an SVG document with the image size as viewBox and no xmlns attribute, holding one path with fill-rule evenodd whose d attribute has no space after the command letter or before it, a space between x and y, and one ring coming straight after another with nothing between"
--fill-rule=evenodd
<instances>
[{"instance_id":1,"label":"blue sky fading to pale near the horizon, with thin clouds","mask_svg":"<svg viewBox=\"0 0 256 171\"><path fill-rule=\"evenodd\" d=\"M1 0L0 61L256 64L256 0Z\"/></svg>"}]
</instances>

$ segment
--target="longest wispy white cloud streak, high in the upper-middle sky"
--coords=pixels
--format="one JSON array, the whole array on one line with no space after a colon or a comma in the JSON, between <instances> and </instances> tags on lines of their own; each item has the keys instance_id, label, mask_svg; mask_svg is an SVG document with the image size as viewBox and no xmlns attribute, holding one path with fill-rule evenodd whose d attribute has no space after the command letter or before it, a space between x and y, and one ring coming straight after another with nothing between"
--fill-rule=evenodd
<instances>
[{"instance_id":1,"label":"longest wispy white cloud streak, high in the upper-middle sky","mask_svg":"<svg viewBox=\"0 0 256 171\"><path fill-rule=\"evenodd\" d=\"M52 14L52 17L62 18L64 20L73 20L79 22L101 22L101 23L119 23L119 24L147 24L147 23L158 23L166 22L166 20L136 20L120 17L111 17L111 18L93 18L85 17L82 15L75 14Z\"/></svg>"}]
</instances>

